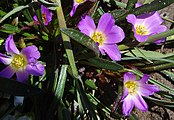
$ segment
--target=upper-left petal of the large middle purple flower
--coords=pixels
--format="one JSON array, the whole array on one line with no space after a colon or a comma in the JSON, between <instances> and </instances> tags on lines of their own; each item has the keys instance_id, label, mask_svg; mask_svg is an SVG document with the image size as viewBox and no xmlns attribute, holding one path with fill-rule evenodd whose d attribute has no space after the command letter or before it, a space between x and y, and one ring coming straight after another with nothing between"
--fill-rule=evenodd
<instances>
[{"instance_id":1,"label":"upper-left petal of the large middle purple flower","mask_svg":"<svg viewBox=\"0 0 174 120\"><path fill-rule=\"evenodd\" d=\"M82 33L91 36L92 33L94 33L96 26L94 20L90 16L85 16L79 22L78 28Z\"/></svg>"}]
</instances>

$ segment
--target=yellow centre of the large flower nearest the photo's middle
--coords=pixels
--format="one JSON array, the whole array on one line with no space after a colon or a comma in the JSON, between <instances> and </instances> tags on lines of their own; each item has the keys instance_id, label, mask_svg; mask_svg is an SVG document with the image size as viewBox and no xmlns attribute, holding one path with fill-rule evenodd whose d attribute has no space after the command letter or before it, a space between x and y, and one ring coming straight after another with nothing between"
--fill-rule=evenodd
<instances>
[{"instance_id":1,"label":"yellow centre of the large flower nearest the photo's middle","mask_svg":"<svg viewBox=\"0 0 174 120\"><path fill-rule=\"evenodd\" d=\"M105 40L105 36L103 35L102 32L94 32L92 35L91 35L91 38L95 41L95 42L98 42L99 45L102 45L104 40Z\"/></svg>"}]
</instances>

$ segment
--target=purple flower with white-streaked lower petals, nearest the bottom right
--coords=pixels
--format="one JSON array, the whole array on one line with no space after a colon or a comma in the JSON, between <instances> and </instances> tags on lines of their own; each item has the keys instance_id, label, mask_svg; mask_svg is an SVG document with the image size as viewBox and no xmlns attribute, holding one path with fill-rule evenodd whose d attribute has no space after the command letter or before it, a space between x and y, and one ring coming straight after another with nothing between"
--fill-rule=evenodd
<instances>
[{"instance_id":1,"label":"purple flower with white-streaked lower petals, nearest the bottom right","mask_svg":"<svg viewBox=\"0 0 174 120\"><path fill-rule=\"evenodd\" d=\"M125 116L128 116L134 105L141 111L145 112L148 109L147 103L142 96L153 95L159 91L156 85L147 84L149 76L144 74L140 80L136 80L136 76L127 72L124 74L124 93L122 97L122 111Z\"/></svg>"}]
</instances>

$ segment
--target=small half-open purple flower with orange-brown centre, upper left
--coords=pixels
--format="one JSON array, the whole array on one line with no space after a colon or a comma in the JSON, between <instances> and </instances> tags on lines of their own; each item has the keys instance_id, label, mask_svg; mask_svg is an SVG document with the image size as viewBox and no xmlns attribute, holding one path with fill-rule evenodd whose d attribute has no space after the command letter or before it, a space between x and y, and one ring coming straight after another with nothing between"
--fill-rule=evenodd
<instances>
[{"instance_id":1,"label":"small half-open purple flower with orange-brown centre, upper left","mask_svg":"<svg viewBox=\"0 0 174 120\"><path fill-rule=\"evenodd\" d=\"M52 20L52 12L43 5L41 5L41 12L44 25L48 25L48 23ZM33 17L33 19L34 21L38 22L36 15Z\"/></svg>"}]
</instances>

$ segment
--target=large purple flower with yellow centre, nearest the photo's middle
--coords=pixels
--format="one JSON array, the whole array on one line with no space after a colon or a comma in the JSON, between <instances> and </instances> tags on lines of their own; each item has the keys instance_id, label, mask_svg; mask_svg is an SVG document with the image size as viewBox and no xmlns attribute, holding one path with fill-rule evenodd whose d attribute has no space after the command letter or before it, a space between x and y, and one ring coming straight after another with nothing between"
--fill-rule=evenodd
<instances>
[{"instance_id":1,"label":"large purple flower with yellow centre, nearest the photo's middle","mask_svg":"<svg viewBox=\"0 0 174 120\"><path fill-rule=\"evenodd\" d=\"M91 37L99 46L99 50L105 52L112 60L121 60L121 54L116 43L121 42L125 35L123 30L114 24L115 20L109 13L101 16L98 26L95 26L90 16L85 16L78 24L80 31Z\"/></svg>"}]
</instances>

